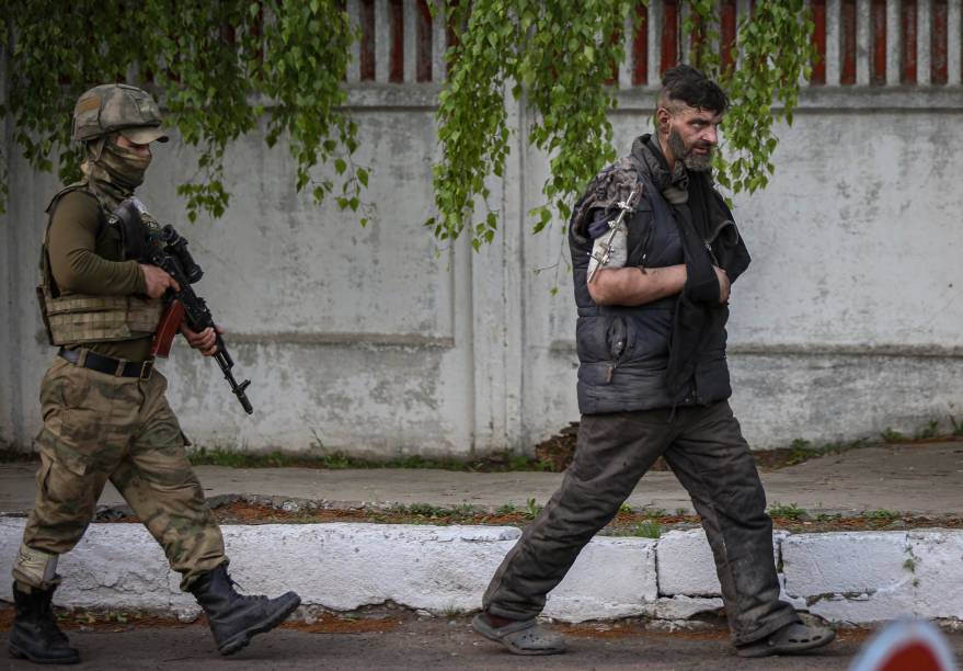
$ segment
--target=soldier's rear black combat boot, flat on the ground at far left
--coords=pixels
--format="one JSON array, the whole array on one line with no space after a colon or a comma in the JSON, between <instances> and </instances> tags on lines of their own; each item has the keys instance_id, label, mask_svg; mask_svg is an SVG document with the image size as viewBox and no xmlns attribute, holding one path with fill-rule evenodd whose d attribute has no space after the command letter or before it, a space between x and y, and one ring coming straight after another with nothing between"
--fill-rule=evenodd
<instances>
[{"instance_id":1,"label":"soldier's rear black combat boot, flat on the ground at far left","mask_svg":"<svg viewBox=\"0 0 963 671\"><path fill-rule=\"evenodd\" d=\"M67 635L54 617L50 601L56 589L56 585L46 590L31 588L27 593L21 592L13 583L15 615L7 647L13 657L38 664L76 664L80 661L80 652L70 647Z\"/></svg>"}]
</instances>

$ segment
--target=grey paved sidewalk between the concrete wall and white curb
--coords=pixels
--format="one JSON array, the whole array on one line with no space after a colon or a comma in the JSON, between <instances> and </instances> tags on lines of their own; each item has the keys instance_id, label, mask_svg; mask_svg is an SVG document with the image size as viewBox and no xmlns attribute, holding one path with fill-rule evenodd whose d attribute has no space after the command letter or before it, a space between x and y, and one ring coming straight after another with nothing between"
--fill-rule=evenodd
<instances>
[{"instance_id":1,"label":"grey paved sidewalk between the concrete wall and white curb","mask_svg":"<svg viewBox=\"0 0 963 671\"><path fill-rule=\"evenodd\" d=\"M0 513L25 512L33 504L35 466L0 464ZM371 468L197 468L208 497L261 494L280 499L359 503L470 503L496 508L544 503L561 481L549 473L459 473ZM809 511L860 513L891 510L921 515L963 515L963 442L885 445L825 456L763 474L770 503L794 503ZM123 503L108 486L101 503ZM670 473L650 473L629 504L674 512L691 510Z\"/></svg>"}]
</instances>

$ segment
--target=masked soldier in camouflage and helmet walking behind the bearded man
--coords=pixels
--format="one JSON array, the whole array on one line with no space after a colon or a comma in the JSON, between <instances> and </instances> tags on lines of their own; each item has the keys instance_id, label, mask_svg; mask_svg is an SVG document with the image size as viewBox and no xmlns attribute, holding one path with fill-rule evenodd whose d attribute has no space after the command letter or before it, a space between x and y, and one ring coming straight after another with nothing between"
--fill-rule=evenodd
<instances>
[{"instance_id":1,"label":"masked soldier in camouflage and helmet walking behind the bearded man","mask_svg":"<svg viewBox=\"0 0 963 671\"><path fill-rule=\"evenodd\" d=\"M300 603L238 594L220 530L187 460L187 444L153 368L150 340L160 297L174 280L126 259L107 215L144 181L150 143L164 143L157 103L140 89L105 84L80 96L73 139L87 150L84 177L54 196L38 287L50 343L59 345L41 384L44 427L37 496L13 567L16 615L10 652L73 663L50 602L57 558L80 541L110 479L163 547L204 609L218 650L230 655L283 622ZM210 356L215 333L182 328Z\"/></svg>"}]
</instances>

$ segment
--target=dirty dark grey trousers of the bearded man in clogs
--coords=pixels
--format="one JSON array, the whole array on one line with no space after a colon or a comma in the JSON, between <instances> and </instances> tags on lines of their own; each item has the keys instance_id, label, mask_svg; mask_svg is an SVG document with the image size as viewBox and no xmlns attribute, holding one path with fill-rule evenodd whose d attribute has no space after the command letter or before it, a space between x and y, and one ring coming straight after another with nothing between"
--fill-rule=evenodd
<instances>
[{"instance_id":1,"label":"dirty dark grey trousers of the bearded man in clogs","mask_svg":"<svg viewBox=\"0 0 963 671\"><path fill-rule=\"evenodd\" d=\"M582 417L562 487L502 561L485 591L486 612L509 619L538 615L582 548L662 455L702 518L733 642L800 622L779 599L766 494L729 402L678 408L669 418L668 409Z\"/></svg>"}]
</instances>

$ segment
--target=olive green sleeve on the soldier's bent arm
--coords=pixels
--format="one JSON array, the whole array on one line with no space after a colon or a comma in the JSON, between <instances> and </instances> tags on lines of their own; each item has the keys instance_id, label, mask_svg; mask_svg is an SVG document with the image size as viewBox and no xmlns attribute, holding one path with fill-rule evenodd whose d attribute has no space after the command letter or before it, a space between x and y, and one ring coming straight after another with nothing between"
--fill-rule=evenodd
<instances>
[{"instance_id":1,"label":"olive green sleeve on the soldier's bent arm","mask_svg":"<svg viewBox=\"0 0 963 671\"><path fill-rule=\"evenodd\" d=\"M47 253L50 272L62 292L126 296L147 291L137 261L121 258L119 238L100 230L96 201L72 192L60 198L50 217ZM99 236L99 232L101 234Z\"/></svg>"}]
</instances>

